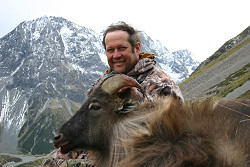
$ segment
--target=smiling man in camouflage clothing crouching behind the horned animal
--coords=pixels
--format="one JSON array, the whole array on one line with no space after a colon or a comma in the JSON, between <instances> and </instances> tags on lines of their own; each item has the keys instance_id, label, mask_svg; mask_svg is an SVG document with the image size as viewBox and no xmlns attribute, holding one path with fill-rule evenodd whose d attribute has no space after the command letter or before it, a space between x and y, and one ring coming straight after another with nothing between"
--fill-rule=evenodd
<instances>
[{"instance_id":1,"label":"smiling man in camouflage clothing crouching behind the horned animal","mask_svg":"<svg viewBox=\"0 0 250 167\"><path fill-rule=\"evenodd\" d=\"M157 96L173 95L179 100L180 104L183 103L184 100L181 91L173 79L155 66L155 56L149 53L141 53L139 31L126 23L111 25L104 32L103 45L106 50L110 69L94 83L93 87L88 91L88 95L90 95L106 77L112 74L126 74L136 79L144 91L140 92L140 90L136 88L126 88L131 89L133 96L138 96L139 99L153 102ZM68 154L68 158L64 158L65 155L60 154L58 150L53 155L53 160L47 161L46 163L52 166L53 164L55 166L68 164L69 161L65 163L65 160L72 159L70 155L72 155L72 152ZM78 155L77 158L80 156L83 156L83 154Z\"/></svg>"}]
</instances>

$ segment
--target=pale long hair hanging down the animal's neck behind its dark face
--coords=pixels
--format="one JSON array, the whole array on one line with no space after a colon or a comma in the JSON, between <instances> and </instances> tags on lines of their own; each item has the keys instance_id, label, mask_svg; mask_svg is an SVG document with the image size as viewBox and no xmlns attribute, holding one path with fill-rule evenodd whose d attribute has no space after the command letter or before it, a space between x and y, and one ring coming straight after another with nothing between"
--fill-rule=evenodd
<instances>
[{"instance_id":1,"label":"pale long hair hanging down the animal's neck behind its dark face","mask_svg":"<svg viewBox=\"0 0 250 167\"><path fill-rule=\"evenodd\" d=\"M147 131L145 120L153 115L154 108L154 103L144 102L115 124L112 127L111 141L107 146L108 152L95 152L95 167L117 166L125 157L128 157L131 150L124 145L123 141L132 137L131 132Z\"/></svg>"}]
</instances>

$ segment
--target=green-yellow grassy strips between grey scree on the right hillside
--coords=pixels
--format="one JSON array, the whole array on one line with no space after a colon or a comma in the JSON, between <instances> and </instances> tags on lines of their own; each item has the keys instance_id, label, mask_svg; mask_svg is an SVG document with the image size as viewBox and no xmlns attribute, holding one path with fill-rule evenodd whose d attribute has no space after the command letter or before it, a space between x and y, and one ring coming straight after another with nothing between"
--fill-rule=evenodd
<instances>
[{"instance_id":1,"label":"green-yellow grassy strips between grey scree on the right hillside","mask_svg":"<svg viewBox=\"0 0 250 167\"><path fill-rule=\"evenodd\" d=\"M213 68L217 63L221 62L223 59L227 58L231 54L240 50L243 46L247 45L250 42L250 38L246 38L243 42L242 40L243 38L249 35L249 30L250 30L250 27L248 27L246 30L244 30L235 38L226 42L218 51L216 51L212 56L210 56L206 61L204 61L202 65L199 66L188 79L180 83L179 86L181 87L182 85L187 84L189 81L205 73L208 69ZM238 41L238 44L236 44L234 47L228 50L225 49L228 47L229 43L235 42L235 39L240 39ZM241 70L237 71L236 73L231 74L223 82L209 88L209 89L212 89L216 87L216 90L213 92L209 92L209 94L215 93L216 96L225 97L228 93L230 93L237 87L240 87L241 85L243 85L246 81L250 79L249 68L250 68L250 64L244 66ZM250 98L249 91L241 95L239 98Z\"/></svg>"}]
</instances>

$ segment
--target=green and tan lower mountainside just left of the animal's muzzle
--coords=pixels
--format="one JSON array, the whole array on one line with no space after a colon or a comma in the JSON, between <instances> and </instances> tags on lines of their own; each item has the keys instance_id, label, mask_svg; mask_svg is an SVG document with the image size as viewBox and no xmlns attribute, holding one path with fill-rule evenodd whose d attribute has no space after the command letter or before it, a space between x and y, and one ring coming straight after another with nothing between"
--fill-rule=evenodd
<instances>
[{"instance_id":1,"label":"green and tan lower mountainside just left of the animal's muzzle","mask_svg":"<svg viewBox=\"0 0 250 167\"><path fill-rule=\"evenodd\" d=\"M47 100L49 104L42 112L39 112ZM61 98L33 102L33 106L30 107L32 112L29 110L29 113L34 116L27 115L29 119L23 125L18 136L18 150L25 154L43 154L53 150L53 132L56 132L71 117L71 114L80 108L78 103L68 98L67 103L65 99ZM69 107L72 113L69 111Z\"/></svg>"}]
</instances>

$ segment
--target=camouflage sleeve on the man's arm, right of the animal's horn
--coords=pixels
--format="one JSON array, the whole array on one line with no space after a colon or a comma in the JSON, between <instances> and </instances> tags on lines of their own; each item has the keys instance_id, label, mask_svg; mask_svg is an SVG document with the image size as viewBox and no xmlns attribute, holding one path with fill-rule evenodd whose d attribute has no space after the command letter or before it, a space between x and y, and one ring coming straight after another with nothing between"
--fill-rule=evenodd
<instances>
[{"instance_id":1,"label":"camouflage sleeve on the man's arm, right of the animal's horn","mask_svg":"<svg viewBox=\"0 0 250 167\"><path fill-rule=\"evenodd\" d=\"M184 102L179 86L168 74L157 67L145 78L141 86L145 92L146 98L150 101L154 101L156 96L173 95L173 97L178 99L180 104Z\"/></svg>"}]
</instances>

